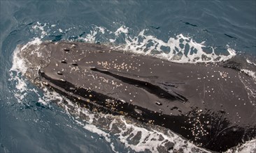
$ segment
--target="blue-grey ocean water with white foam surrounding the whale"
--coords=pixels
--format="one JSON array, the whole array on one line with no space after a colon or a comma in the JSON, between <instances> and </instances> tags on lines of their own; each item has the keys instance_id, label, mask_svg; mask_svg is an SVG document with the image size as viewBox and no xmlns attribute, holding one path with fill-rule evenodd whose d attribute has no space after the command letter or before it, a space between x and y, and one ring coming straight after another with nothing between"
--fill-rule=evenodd
<instances>
[{"instance_id":1,"label":"blue-grey ocean water with white foam surrounding the whale","mask_svg":"<svg viewBox=\"0 0 256 153\"><path fill-rule=\"evenodd\" d=\"M177 63L218 62L234 56L256 63L255 0L1 0L0 11L0 152L158 152L147 146L150 142L138 148L125 136L79 120L60 104L62 97L24 79L15 71L18 45L66 40L110 45ZM194 50L193 58L189 50Z\"/></svg>"}]
</instances>

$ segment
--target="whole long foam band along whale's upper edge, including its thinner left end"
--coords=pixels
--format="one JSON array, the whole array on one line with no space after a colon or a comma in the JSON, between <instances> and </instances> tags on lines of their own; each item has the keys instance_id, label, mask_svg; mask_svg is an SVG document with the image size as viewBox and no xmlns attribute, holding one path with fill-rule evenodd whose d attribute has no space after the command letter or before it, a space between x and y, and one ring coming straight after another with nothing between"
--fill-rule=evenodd
<instances>
[{"instance_id":1,"label":"whole long foam band along whale's upper edge, including its thinner left end","mask_svg":"<svg viewBox=\"0 0 256 153\"><path fill-rule=\"evenodd\" d=\"M127 35L129 27L124 25L120 26L116 31L109 31L104 27L94 26L90 33L87 33L80 40L95 42L97 35L107 34L108 41L115 44L114 49L156 56L176 63L215 63L227 61L236 56L236 51L228 45L225 53L227 55L215 54L215 47L206 46L205 42L196 42L193 38L182 33L175 37L170 37L169 40L164 42L154 35L145 34L147 31L148 29L143 29L138 35L131 36ZM125 41L125 44L118 44L122 39ZM164 51L166 49L168 51ZM205 49L211 51L207 52Z\"/></svg>"}]
</instances>

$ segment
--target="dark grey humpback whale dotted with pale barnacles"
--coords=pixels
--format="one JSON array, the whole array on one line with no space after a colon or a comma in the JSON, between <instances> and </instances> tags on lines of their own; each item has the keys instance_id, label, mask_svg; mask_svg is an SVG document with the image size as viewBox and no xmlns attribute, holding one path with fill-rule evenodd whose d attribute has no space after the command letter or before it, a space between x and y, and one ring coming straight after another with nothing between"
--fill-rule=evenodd
<instances>
[{"instance_id":1,"label":"dark grey humpback whale dotted with pale barnacles","mask_svg":"<svg viewBox=\"0 0 256 153\"><path fill-rule=\"evenodd\" d=\"M255 80L234 62L172 63L85 42L20 49L31 82L90 110L166 127L218 152L256 136Z\"/></svg>"}]
</instances>

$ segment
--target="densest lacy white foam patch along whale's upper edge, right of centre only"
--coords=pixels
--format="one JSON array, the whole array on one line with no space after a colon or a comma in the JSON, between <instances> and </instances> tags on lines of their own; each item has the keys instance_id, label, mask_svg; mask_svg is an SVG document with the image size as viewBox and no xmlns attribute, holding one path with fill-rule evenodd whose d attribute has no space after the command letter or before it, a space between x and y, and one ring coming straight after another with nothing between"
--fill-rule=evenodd
<instances>
[{"instance_id":1,"label":"densest lacy white foam patch along whale's upper edge, right of centre only","mask_svg":"<svg viewBox=\"0 0 256 153\"><path fill-rule=\"evenodd\" d=\"M141 31L134 38L127 36L126 45L120 45L118 48L138 54L157 56L176 63L214 63L227 61L236 56L236 51L229 46L227 46L227 56L217 55L213 47L204 45L204 42L196 42L193 38L183 34L176 35L175 38L169 38L167 42L164 42L153 35L145 35L145 31ZM163 51L162 48L169 51ZM204 48L210 49L211 53L206 53Z\"/></svg>"}]
</instances>

